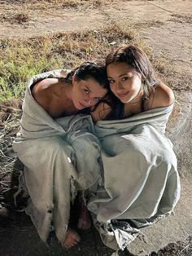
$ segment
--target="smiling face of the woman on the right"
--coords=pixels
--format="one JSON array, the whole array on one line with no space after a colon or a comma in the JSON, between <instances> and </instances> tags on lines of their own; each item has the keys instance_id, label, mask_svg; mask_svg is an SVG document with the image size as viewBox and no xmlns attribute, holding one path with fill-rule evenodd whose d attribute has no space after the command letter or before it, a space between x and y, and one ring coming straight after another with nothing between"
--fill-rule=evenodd
<instances>
[{"instance_id":1,"label":"smiling face of the woman on the right","mask_svg":"<svg viewBox=\"0 0 192 256\"><path fill-rule=\"evenodd\" d=\"M107 77L111 91L122 103L134 102L142 87L142 76L124 62L107 65Z\"/></svg>"}]
</instances>

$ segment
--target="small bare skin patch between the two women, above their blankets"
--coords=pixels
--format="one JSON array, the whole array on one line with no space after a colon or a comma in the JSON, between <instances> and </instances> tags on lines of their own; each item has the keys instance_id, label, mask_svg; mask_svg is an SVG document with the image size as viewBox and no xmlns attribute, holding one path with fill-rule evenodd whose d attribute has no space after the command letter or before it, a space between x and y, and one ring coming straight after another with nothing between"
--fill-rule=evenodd
<instances>
[{"instance_id":1,"label":"small bare skin patch between the two women, above their blankets","mask_svg":"<svg viewBox=\"0 0 192 256\"><path fill-rule=\"evenodd\" d=\"M110 112L111 107L107 103L101 102L94 109L94 111L91 112L91 116L93 117L94 121L101 121L104 120Z\"/></svg>"}]
</instances>

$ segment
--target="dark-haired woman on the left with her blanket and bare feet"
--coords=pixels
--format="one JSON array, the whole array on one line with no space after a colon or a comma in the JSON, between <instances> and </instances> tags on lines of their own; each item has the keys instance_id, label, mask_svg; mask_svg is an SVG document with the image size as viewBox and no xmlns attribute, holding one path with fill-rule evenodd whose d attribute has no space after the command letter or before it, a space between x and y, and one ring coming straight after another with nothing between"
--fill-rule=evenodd
<instances>
[{"instance_id":1,"label":"dark-haired woman on the left with her blanket and bare feet","mask_svg":"<svg viewBox=\"0 0 192 256\"><path fill-rule=\"evenodd\" d=\"M70 204L77 190L101 182L99 145L90 116L108 90L105 65L85 62L72 71L36 75L29 82L20 133L13 148L24 163L28 194L26 213L47 241L51 228L61 244L76 245L79 235L68 227ZM94 143L90 143L90 140ZM86 157L95 152L94 166ZM78 227L89 228L89 214L81 202Z\"/></svg>"}]
</instances>

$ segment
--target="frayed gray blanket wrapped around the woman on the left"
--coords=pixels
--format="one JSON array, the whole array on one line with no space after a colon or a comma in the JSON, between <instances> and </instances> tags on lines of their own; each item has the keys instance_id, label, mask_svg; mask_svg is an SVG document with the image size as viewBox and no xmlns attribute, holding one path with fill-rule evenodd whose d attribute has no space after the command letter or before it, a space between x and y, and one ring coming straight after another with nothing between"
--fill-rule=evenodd
<instances>
[{"instance_id":1,"label":"frayed gray blanket wrapped around the woman on the left","mask_svg":"<svg viewBox=\"0 0 192 256\"><path fill-rule=\"evenodd\" d=\"M90 191L94 191L103 180L98 164L100 147L93 135L91 117L80 114L54 120L31 94L34 83L46 77L65 77L67 72L57 70L32 78L24 97L20 132L13 143L24 163L30 195L26 213L43 241L52 226L59 241L64 241L76 190L91 187Z\"/></svg>"}]
</instances>

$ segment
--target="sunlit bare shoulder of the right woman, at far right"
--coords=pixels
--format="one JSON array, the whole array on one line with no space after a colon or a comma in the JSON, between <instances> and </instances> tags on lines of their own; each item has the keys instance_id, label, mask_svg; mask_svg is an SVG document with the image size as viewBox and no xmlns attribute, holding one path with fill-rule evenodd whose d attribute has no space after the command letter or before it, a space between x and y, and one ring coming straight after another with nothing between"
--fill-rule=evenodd
<instances>
[{"instance_id":1,"label":"sunlit bare shoulder of the right woman, at far right","mask_svg":"<svg viewBox=\"0 0 192 256\"><path fill-rule=\"evenodd\" d=\"M174 94L171 88L160 82L155 86L155 91L150 95L151 108L167 107L174 102Z\"/></svg>"}]
</instances>

